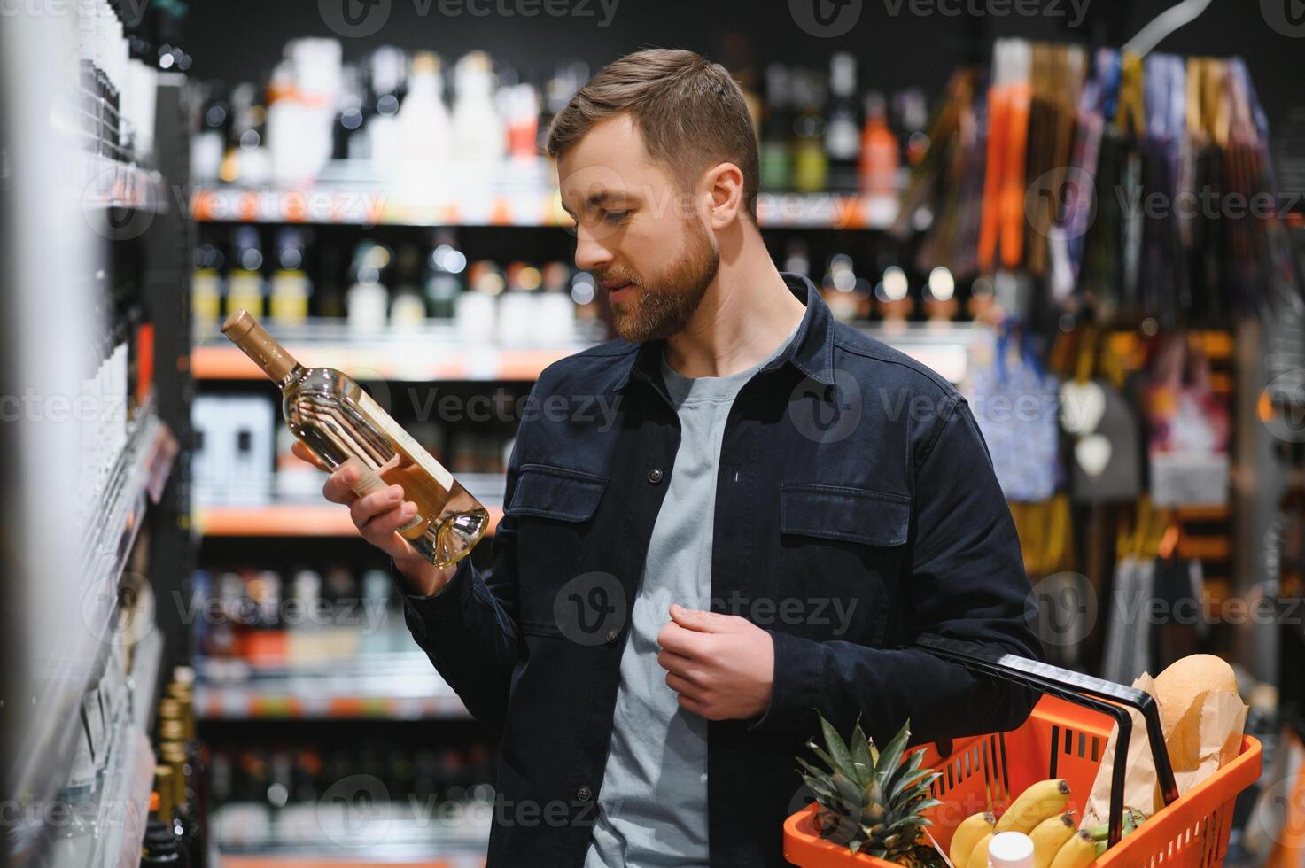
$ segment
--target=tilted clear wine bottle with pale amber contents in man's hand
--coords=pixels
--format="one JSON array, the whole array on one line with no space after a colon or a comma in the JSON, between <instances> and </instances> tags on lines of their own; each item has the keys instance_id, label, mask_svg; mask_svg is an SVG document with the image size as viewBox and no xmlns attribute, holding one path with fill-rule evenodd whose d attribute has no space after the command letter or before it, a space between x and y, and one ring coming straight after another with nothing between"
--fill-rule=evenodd
<instances>
[{"instance_id":1,"label":"tilted clear wine bottle with pale amber contents in man's hand","mask_svg":"<svg viewBox=\"0 0 1305 868\"><path fill-rule=\"evenodd\" d=\"M227 317L222 333L245 351L282 392L286 426L330 469L363 471L359 496L401 486L416 516L399 534L436 566L455 564L475 547L489 513L361 386L334 368L305 368L248 311Z\"/></svg>"}]
</instances>

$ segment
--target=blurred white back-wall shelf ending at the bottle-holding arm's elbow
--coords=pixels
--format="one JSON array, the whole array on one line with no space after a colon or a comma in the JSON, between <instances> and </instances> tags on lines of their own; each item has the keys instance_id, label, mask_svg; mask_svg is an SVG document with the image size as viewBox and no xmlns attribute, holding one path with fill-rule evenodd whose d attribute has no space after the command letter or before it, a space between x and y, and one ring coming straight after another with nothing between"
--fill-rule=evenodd
<instances>
[{"instance_id":1,"label":"blurred white back-wall shelf ending at the bottle-holding arm's elbow","mask_svg":"<svg viewBox=\"0 0 1305 868\"><path fill-rule=\"evenodd\" d=\"M395 617L398 617L395 615ZM347 638L315 645L338 651L359 641ZM358 651L316 662L258 662L198 658L196 713L207 721L228 719L467 719L462 700L440 677L431 660L415 650L407 628L382 625L361 641L375 640L405 651Z\"/></svg>"}]
</instances>

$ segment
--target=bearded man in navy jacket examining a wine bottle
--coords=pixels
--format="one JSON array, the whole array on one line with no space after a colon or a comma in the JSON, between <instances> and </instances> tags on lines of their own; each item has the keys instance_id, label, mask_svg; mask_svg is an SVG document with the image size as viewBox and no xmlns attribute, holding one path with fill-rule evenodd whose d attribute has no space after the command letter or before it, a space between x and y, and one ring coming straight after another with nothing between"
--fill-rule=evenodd
<instances>
[{"instance_id":1,"label":"bearded man in navy jacket examining a wine bottle","mask_svg":"<svg viewBox=\"0 0 1305 868\"><path fill-rule=\"evenodd\" d=\"M359 499L341 470L325 495L501 734L489 868L778 868L817 711L880 744L908 718L921 741L1027 717L915 645L1040 654L1015 527L951 385L775 269L722 67L621 57L548 150L620 338L539 377L492 568L418 556L398 487Z\"/></svg>"}]
</instances>

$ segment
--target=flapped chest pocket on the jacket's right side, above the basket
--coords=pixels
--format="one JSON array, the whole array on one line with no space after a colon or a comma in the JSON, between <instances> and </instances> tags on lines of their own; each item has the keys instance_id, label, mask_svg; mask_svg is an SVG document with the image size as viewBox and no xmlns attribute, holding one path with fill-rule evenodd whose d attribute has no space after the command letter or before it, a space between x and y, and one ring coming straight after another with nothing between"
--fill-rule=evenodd
<instances>
[{"instance_id":1,"label":"flapped chest pocket on the jacket's right side, above the basket","mask_svg":"<svg viewBox=\"0 0 1305 868\"><path fill-rule=\"evenodd\" d=\"M779 607L790 632L869 646L883 642L907 557L911 499L814 483L779 487ZM796 600L796 603L791 602Z\"/></svg>"}]
</instances>

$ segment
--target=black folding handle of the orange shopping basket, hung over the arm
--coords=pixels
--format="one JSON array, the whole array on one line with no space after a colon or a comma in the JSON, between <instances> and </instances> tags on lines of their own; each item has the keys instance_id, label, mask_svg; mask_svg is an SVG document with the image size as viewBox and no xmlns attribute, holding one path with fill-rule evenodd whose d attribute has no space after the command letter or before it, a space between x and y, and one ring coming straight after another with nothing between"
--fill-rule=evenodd
<instances>
[{"instance_id":1,"label":"black folding handle of the orange shopping basket, hung over the arm","mask_svg":"<svg viewBox=\"0 0 1305 868\"><path fill-rule=\"evenodd\" d=\"M1124 777L1128 771L1129 737L1133 732L1133 718L1124 706L1135 709L1146 722L1146 735L1164 804L1171 804L1178 798L1173 765L1169 762L1169 751L1160 727L1160 709L1155 697L1146 690L944 636L923 634L916 638L916 645L972 672L1011 681L1114 718L1118 739L1114 745L1114 767L1111 770L1111 846L1118 842L1122 830Z\"/></svg>"}]
</instances>

